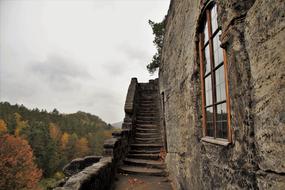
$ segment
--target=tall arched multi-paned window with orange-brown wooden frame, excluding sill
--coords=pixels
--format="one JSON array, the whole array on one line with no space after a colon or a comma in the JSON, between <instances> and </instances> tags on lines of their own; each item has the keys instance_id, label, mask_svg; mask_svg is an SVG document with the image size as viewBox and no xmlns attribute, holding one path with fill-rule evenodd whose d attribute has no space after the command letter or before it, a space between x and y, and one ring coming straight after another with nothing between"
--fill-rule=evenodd
<instances>
[{"instance_id":1,"label":"tall arched multi-paned window with orange-brown wooden frame, excluding sill","mask_svg":"<svg viewBox=\"0 0 285 190\"><path fill-rule=\"evenodd\" d=\"M225 50L220 47L216 4L206 8L201 21L199 54L204 135L231 141L227 62Z\"/></svg>"}]
</instances>

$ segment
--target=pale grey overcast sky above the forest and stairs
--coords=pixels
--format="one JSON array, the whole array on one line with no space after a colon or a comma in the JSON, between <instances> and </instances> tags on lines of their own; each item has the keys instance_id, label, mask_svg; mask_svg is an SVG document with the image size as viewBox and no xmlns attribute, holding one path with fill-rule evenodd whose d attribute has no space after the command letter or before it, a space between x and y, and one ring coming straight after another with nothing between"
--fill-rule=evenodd
<instances>
[{"instance_id":1,"label":"pale grey overcast sky above the forest and stairs","mask_svg":"<svg viewBox=\"0 0 285 190\"><path fill-rule=\"evenodd\" d=\"M0 0L0 101L123 120L170 0Z\"/></svg>"}]
</instances>

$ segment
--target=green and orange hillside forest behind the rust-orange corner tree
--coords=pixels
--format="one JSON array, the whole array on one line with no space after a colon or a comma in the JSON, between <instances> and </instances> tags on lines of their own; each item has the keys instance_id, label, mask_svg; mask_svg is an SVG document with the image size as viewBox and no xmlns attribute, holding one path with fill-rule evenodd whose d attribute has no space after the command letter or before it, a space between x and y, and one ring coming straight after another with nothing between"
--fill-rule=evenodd
<instances>
[{"instance_id":1,"label":"green and orange hillside forest behind the rust-orange corner tree","mask_svg":"<svg viewBox=\"0 0 285 190\"><path fill-rule=\"evenodd\" d=\"M81 111L61 114L0 103L0 137L5 133L27 141L43 178L60 178L62 168L74 158L101 155L113 130L98 116Z\"/></svg>"}]
</instances>

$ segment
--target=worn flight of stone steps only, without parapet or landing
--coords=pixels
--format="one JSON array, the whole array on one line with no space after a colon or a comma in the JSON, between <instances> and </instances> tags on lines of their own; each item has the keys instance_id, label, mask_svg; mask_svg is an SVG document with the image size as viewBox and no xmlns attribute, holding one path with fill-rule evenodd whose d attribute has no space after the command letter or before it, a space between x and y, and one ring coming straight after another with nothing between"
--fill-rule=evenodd
<instances>
[{"instance_id":1,"label":"worn flight of stone steps only, without parapet or landing","mask_svg":"<svg viewBox=\"0 0 285 190\"><path fill-rule=\"evenodd\" d=\"M161 158L163 150L159 125L158 90L148 83L140 83L135 136L119 173L147 176L166 176Z\"/></svg>"}]
</instances>

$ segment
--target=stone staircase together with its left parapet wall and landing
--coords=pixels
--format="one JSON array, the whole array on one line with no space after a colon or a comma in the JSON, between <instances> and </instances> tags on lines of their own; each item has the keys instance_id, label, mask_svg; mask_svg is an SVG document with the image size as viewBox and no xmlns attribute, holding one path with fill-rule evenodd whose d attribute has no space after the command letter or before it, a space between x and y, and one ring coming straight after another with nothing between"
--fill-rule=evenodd
<instances>
[{"instance_id":1,"label":"stone staircase together with its left parapet wall and landing","mask_svg":"<svg viewBox=\"0 0 285 190\"><path fill-rule=\"evenodd\" d=\"M78 158L64 167L66 179L55 190L171 190L164 163L158 79L131 80L122 130L104 143L103 156ZM132 187L130 180L142 183ZM134 181L136 182L136 181Z\"/></svg>"}]
</instances>

